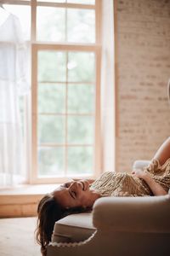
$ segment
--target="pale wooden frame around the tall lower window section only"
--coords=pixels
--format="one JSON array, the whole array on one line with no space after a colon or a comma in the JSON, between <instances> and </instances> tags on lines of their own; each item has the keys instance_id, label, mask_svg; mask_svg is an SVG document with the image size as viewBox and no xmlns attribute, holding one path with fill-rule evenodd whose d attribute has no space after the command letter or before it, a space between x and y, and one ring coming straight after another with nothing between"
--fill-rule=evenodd
<instances>
[{"instance_id":1,"label":"pale wooden frame around the tall lower window section only","mask_svg":"<svg viewBox=\"0 0 170 256\"><path fill-rule=\"evenodd\" d=\"M63 183L68 180L67 177L37 177L37 51L39 49L52 49L52 50L77 50L77 51L92 51L96 55L96 73L100 72L100 46L94 45L75 45L75 44L32 44L32 176L31 183ZM96 102L95 102L95 166L94 175L87 176L95 178L100 173L100 79L96 76ZM75 176L77 177L77 176ZM84 178L85 176L78 176ZM70 178L73 178L71 175Z\"/></svg>"}]
</instances>

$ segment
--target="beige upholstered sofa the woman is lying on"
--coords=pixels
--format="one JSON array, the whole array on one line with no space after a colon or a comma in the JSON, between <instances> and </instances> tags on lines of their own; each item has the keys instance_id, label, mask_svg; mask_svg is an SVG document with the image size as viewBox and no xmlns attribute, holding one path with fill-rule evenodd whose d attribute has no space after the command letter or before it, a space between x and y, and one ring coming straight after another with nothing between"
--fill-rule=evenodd
<instances>
[{"instance_id":1,"label":"beige upholstered sofa the woman is lying on","mask_svg":"<svg viewBox=\"0 0 170 256\"><path fill-rule=\"evenodd\" d=\"M122 255L170 255L170 193L100 198L56 222L48 245L48 256Z\"/></svg>"}]
</instances>

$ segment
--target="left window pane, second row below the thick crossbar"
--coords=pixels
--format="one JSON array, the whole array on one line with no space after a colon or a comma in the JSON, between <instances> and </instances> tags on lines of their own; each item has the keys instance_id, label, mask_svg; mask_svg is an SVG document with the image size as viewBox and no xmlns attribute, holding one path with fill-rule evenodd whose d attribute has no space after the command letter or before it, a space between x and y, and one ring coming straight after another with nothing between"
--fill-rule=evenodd
<instances>
[{"instance_id":1,"label":"left window pane, second row below the thick crossbar","mask_svg":"<svg viewBox=\"0 0 170 256\"><path fill-rule=\"evenodd\" d=\"M65 84L38 84L38 113L65 113Z\"/></svg>"}]
</instances>

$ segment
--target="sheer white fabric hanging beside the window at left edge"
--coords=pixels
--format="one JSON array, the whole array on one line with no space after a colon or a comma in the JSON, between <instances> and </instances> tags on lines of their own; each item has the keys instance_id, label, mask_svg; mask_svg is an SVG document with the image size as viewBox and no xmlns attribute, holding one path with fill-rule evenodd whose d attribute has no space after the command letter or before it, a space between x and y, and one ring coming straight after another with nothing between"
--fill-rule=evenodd
<instances>
[{"instance_id":1,"label":"sheer white fabric hanging beside the window at left edge","mask_svg":"<svg viewBox=\"0 0 170 256\"><path fill-rule=\"evenodd\" d=\"M8 14L0 25L0 187L26 181L19 97L28 90L20 21Z\"/></svg>"}]
</instances>

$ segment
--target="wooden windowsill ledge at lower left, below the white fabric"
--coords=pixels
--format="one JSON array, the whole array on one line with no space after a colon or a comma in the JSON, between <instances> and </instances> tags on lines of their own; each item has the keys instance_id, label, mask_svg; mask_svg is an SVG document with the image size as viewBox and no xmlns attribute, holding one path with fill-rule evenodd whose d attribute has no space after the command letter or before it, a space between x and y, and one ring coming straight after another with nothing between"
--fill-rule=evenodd
<instances>
[{"instance_id":1,"label":"wooden windowsill ledge at lower left, below the white fabric","mask_svg":"<svg viewBox=\"0 0 170 256\"><path fill-rule=\"evenodd\" d=\"M42 196L52 192L58 184L20 185L0 189L0 218L37 216L37 205Z\"/></svg>"}]
</instances>

